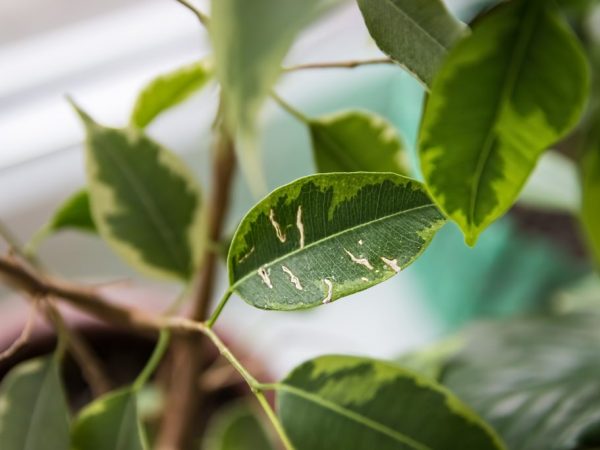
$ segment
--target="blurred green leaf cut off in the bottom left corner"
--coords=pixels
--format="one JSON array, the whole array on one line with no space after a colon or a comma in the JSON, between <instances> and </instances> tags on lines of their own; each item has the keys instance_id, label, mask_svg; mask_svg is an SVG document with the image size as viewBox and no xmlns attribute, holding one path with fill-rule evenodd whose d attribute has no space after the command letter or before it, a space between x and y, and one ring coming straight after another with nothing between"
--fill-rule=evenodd
<instances>
[{"instance_id":1,"label":"blurred green leaf cut off in the bottom left corner","mask_svg":"<svg viewBox=\"0 0 600 450\"><path fill-rule=\"evenodd\" d=\"M69 448L69 410L56 358L26 361L0 389L2 450ZM87 449L86 449L87 450Z\"/></svg>"}]
</instances>

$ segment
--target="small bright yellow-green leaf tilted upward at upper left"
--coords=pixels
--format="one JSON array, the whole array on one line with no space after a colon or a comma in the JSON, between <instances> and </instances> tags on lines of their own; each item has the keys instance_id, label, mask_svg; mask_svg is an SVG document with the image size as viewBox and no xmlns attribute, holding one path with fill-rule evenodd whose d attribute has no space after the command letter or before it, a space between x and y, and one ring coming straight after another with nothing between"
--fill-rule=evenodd
<instances>
[{"instance_id":1,"label":"small bright yellow-green leaf tilted upward at upper left","mask_svg":"<svg viewBox=\"0 0 600 450\"><path fill-rule=\"evenodd\" d=\"M209 60L180 67L152 80L138 96L131 113L131 124L145 128L159 114L188 99L213 76Z\"/></svg>"}]
</instances>

